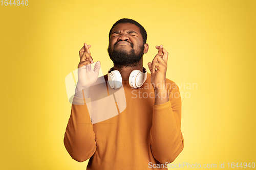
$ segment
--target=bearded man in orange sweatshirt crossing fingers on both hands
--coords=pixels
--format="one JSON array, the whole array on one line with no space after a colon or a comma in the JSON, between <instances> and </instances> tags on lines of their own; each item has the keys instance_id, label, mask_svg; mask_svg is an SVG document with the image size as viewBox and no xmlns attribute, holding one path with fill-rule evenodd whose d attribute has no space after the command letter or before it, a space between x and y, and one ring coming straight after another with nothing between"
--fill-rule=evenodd
<instances>
[{"instance_id":1,"label":"bearded man in orange sweatshirt crossing fingers on both hands","mask_svg":"<svg viewBox=\"0 0 256 170\"><path fill-rule=\"evenodd\" d=\"M91 69L91 45L84 43L79 51L78 82L64 143L73 159L90 158L87 169L167 169L183 150L179 88L165 78L168 53L163 45L156 46L158 53L148 63L151 74L146 73L142 57L148 51L146 38L145 29L132 19L123 18L113 25L108 52L114 63L111 70L118 70L122 78L126 108L94 124L87 98L97 81L100 62ZM129 83L133 70L145 75L139 88ZM104 76L106 82L109 78Z\"/></svg>"}]
</instances>

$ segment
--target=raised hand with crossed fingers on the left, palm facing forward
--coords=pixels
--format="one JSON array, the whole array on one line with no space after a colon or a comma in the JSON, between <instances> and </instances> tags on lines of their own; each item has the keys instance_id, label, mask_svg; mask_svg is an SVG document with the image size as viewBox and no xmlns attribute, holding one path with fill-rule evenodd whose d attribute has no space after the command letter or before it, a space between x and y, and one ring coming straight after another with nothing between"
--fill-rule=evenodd
<instances>
[{"instance_id":1,"label":"raised hand with crossed fingers on the left, palm facing forward","mask_svg":"<svg viewBox=\"0 0 256 170\"><path fill-rule=\"evenodd\" d=\"M91 64L93 63L93 58L89 48L91 45L84 43L83 47L79 51L80 62L78 64L78 81L76 85L76 91L82 89L89 89L99 76L100 62L97 61L94 70L92 70Z\"/></svg>"}]
</instances>

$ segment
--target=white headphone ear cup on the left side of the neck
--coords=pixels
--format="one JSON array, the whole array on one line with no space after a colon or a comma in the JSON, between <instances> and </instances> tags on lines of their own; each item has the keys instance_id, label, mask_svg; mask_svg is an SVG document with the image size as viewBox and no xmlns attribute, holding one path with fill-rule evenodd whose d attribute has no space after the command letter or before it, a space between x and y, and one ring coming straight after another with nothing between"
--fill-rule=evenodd
<instances>
[{"instance_id":1,"label":"white headphone ear cup on the left side of the neck","mask_svg":"<svg viewBox=\"0 0 256 170\"><path fill-rule=\"evenodd\" d=\"M108 81L111 88L118 89L122 86L122 76L118 70L113 70L108 74Z\"/></svg>"}]
</instances>

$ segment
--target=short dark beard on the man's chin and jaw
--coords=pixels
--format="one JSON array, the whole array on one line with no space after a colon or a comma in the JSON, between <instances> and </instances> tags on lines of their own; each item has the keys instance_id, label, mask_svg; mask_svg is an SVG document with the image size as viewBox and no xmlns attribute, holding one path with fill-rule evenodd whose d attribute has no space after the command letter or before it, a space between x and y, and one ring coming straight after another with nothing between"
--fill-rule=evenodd
<instances>
[{"instance_id":1,"label":"short dark beard on the man's chin and jaw","mask_svg":"<svg viewBox=\"0 0 256 170\"><path fill-rule=\"evenodd\" d=\"M115 50L117 42L114 44L114 50L111 53L110 49L108 47L108 53L110 56L110 59L113 61L114 65L116 67L128 67L128 66L137 66L139 61L141 60L143 56L143 50L144 50L144 45L138 47L138 54L135 54L135 50L133 48L133 44L131 43L132 49L130 51L126 50Z\"/></svg>"}]
</instances>

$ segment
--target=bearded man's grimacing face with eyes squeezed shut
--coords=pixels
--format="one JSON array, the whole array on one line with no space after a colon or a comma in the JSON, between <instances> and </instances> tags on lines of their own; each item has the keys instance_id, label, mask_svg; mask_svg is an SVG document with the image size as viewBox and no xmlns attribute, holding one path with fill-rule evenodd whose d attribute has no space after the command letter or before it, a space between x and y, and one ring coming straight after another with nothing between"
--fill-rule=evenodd
<instances>
[{"instance_id":1,"label":"bearded man's grimacing face with eyes squeezed shut","mask_svg":"<svg viewBox=\"0 0 256 170\"><path fill-rule=\"evenodd\" d=\"M134 66L143 56L140 28L132 23L119 23L110 35L108 52L116 66Z\"/></svg>"}]
</instances>

